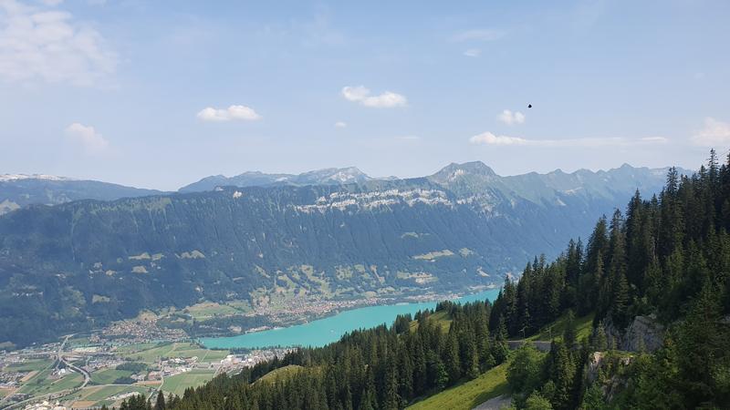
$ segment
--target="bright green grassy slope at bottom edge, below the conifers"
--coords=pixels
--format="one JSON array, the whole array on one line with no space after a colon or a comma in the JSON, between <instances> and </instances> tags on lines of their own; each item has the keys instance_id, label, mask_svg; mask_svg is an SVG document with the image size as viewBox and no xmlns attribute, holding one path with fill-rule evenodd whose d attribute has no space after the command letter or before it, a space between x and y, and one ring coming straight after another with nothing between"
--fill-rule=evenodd
<instances>
[{"instance_id":1,"label":"bright green grassy slope at bottom edge, below the conifers","mask_svg":"<svg viewBox=\"0 0 730 410\"><path fill-rule=\"evenodd\" d=\"M412 410L468 410L491 398L506 395L509 391L506 368L507 364L500 364L474 380L455 385L408 408Z\"/></svg>"}]
</instances>

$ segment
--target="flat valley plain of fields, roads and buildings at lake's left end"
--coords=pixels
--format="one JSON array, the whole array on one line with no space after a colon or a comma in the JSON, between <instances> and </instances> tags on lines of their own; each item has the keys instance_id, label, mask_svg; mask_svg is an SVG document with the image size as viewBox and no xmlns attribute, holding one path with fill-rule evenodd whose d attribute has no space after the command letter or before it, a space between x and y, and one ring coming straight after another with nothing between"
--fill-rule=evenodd
<instances>
[{"instance_id":1,"label":"flat valley plain of fields, roads and buildings at lake's left end","mask_svg":"<svg viewBox=\"0 0 730 410\"><path fill-rule=\"evenodd\" d=\"M0 409L67 410L119 405L130 395L182 395L217 374L282 357L292 349L232 353L193 343L155 321L114 323L16 351L0 351Z\"/></svg>"}]
</instances>

